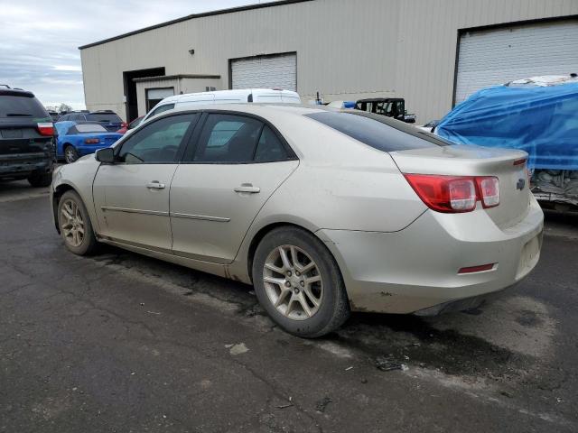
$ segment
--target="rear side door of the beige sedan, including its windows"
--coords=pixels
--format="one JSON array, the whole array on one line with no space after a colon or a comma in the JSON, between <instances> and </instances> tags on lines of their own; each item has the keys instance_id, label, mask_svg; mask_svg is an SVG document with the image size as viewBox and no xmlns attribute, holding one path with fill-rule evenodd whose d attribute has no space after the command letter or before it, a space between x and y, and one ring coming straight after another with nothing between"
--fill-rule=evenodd
<instances>
[{"instance_id":1,"label":"rear side door of the beige sedan, including its windows","mask_svg":"<svg viewBox=\"0 0 578 433\"><path fill-rule=\"evenodd\" d=\"M172 179L173 253L231 263L258 211L298 164L262 119L203 115Z\"/></svg>"}]
</instances>

